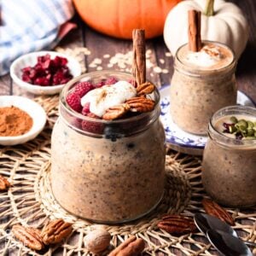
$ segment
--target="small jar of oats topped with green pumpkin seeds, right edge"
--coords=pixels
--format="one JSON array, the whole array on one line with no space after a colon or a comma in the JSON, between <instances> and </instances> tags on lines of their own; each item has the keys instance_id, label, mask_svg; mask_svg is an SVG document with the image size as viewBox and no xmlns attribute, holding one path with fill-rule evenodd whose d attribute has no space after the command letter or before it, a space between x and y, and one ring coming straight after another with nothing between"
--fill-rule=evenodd
<instances>
[{"instance_id":1,"label":"small jar of oats topped with green pumpkin seeds, right edge","mask_svg":"<svg viewBox=\"0 0 256 256\"><path fill-rule=\"evenodd\" d=\"M210 120L208 135L202 161L207 193L229 207L255 205L256 108L218 110Z\"/></svg>"}]
</instances>

